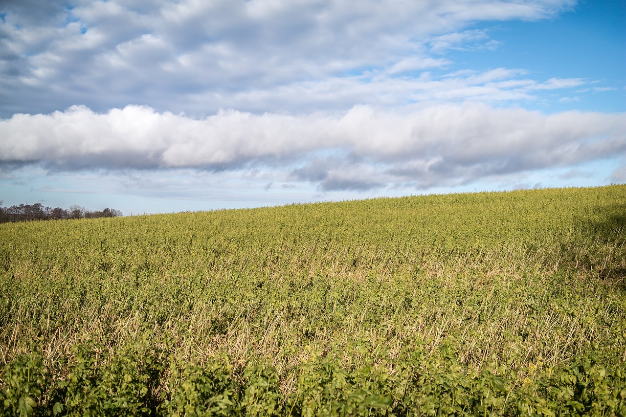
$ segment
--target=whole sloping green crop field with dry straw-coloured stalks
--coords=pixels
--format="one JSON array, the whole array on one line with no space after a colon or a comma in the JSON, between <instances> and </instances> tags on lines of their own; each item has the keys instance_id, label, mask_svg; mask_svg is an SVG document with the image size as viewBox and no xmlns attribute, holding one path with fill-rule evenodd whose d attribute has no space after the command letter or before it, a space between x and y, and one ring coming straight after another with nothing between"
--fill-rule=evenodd
<instances>
[{"instance_id":1,"label":"whole sloping green crop field with dry straw-coloured stalks","mask_svg":"<svg viewBox=\"0 0 626 417\"><path fill-rule=\"evenodd\" d=\"M0 415L626 415L626 185L0 225Z\"/></svg>"}]
</instances>

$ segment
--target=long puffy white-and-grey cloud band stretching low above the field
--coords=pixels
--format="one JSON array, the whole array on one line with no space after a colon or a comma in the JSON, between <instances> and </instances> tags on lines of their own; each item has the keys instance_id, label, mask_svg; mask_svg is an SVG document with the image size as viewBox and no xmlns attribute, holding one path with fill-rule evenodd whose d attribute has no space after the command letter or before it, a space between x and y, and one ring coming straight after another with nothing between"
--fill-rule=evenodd
<instances>
[{"instance_id":1,"label":"long puffy white-and-grey cloud band stretching low above the field","mask_svg":"<svg viewBox=\"0 0 626 417\"><path fill-rule=\"evenodd\" d=\"M74 106L1 120L0 161L53 171L270 167L284 182L322 191L428 188L623 155L625 132L623 114L544 115L470 102L405 113L360 105L336 115L223 110L204 118Z\"/></svg>"}]
</instances>

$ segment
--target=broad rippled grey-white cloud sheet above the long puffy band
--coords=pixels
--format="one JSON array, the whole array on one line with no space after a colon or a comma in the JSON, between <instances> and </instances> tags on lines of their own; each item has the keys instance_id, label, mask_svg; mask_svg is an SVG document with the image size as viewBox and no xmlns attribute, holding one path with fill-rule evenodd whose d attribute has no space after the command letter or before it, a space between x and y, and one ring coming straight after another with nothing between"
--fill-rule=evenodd
<instances>
[{"instance_id":1,"label":"broad rippled grey-white cloud sheet above the long puffy band","mask_svg":"<svg viewBox=\"0 0 626 417\"><path fill-rule=\"evenodd\" d=\"M372 68L387 75L442 68L449 59L431 56L429 42L490 48L496 41L486 31L464 27L476 21L546 18L574 2L30 3L11 0L0 6L0 50L8 51L0 57L4 117L81 103L98 111L129 103L195 114L223 107L313 111L324 108L326 101L304 100L299 105L300 96L284 93L298 93L302 85L324 88L334 78L350 81L351 74ZM393 80L389 86L393 88ZM347 88L338 94L344 97L342 110L376 100L399 103L398 98L381 95L364 101L358 91L350 96L351 83ZM248 95L264 101L248 106Z\"/></svg>"}]
</instances>

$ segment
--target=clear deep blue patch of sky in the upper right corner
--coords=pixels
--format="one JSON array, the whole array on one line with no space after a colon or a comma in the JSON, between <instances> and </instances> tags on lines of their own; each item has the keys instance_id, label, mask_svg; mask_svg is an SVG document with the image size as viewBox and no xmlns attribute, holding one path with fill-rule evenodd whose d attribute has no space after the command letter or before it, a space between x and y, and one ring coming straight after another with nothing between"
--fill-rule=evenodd
<instances>
[{"instance_id":1,"label":"clear deep blue patch of sky in the upper right corner","mask_svg":"<svg viewBox=\"0 0 626 417\"><path fill-rule=\"evenodd\" d=\"M485 23L476 28L486 29L500 46L493 51L449 51L446 58L454 61L454 69L522 68L530 71L528 78L537 81L598 81L588 86L588 91L543 91L546 99L554 101L548 109L539 104L539 109L626 110L626 1L582 0L573 11L550 19ZM596 87L614 90L598 91ZM559 102L564 96L572 100Z\"/></svg>"}]
</instances>

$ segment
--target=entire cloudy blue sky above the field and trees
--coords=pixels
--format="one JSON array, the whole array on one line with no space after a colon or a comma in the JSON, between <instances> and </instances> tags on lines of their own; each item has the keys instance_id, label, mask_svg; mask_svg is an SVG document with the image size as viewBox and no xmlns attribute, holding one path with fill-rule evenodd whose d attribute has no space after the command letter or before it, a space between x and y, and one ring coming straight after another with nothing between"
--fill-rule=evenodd
<instances>
[{"instance_id":1,"label":"entire cloudy blue sky above the field and trees","mask_svg":"<svg viewBox=\"0 0 626 417\"><path fill-rule=\"evenodd\" d=\"M626 183L623 0L0 0L0 200Z\"/></svg>"}]
</instances>

